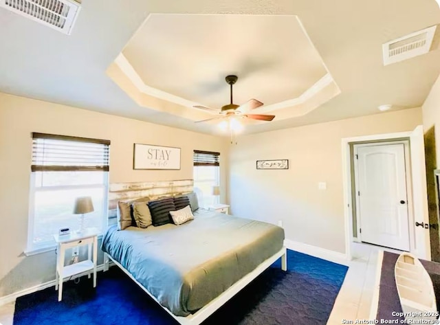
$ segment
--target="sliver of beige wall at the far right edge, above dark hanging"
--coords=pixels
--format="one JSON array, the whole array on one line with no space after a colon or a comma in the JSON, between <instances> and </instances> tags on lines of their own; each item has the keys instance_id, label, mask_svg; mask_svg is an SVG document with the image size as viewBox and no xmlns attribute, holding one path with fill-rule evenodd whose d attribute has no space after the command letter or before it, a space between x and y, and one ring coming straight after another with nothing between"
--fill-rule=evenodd
<instances>
[{"instance_id":1,"label":"sliver of beige wall at the far right edge, above dark hanging","mask_svg":"<svg viewBox=\"0 0 440 325\"><path fill-rule=\"evenodd\" d=\"M440 166L440 76L432 86L432 89L422 106L423 130L434 126L435 148L437 152L437 166Z\"/></svg>"}]
</instances>

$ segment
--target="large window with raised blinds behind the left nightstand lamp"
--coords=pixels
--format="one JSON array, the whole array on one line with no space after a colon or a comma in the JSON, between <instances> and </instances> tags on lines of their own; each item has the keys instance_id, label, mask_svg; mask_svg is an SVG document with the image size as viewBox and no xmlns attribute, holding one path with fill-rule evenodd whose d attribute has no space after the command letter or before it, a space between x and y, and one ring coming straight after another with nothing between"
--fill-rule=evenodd
<instances>
[{"instance_id":1,"label":"large window with raised blinds behind the left nightstand lamp","mask_svg":"<svg viewBox=\"0 0 440 325\"><path fill-rule=\"evenodd\" d=\"M109 174L108 140L32 133L30 222L28 251L54 246L54 234L63 227L79 228L74 214L77 197L91 197L94 212L85 215L85 227L107 225Z\"/></svg>"}]
</instances>

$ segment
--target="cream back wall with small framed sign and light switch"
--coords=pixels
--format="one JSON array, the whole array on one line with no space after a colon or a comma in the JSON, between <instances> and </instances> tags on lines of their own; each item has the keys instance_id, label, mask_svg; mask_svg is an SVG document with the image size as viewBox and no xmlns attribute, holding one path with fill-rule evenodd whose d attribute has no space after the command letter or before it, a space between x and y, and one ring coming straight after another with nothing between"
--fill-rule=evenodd
<instances>
[{"instance_id":1,"label":"cream back wall with small framed sign and light switch","mask_svg":"<svg viewBox=\"0 0 440 325\"><path fill-rule=\"evenodd\" d=\"M287 239L344 253L341 139L421 122L416 108L239 137L230 149L232 213L282 220ZM289 170L256 170L257 159L289 159ZM318 190L320 181L327 190Z\"/></svg>"}]
</instances>

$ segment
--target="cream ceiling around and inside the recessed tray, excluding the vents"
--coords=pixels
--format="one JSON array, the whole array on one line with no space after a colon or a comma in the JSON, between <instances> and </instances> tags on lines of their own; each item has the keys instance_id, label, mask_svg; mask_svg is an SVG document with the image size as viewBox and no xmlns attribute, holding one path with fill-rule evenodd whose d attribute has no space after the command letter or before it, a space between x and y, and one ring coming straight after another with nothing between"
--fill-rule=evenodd
<instances>
[{"instance_id":1,"label":"cream ceiling around and inside the recessed tray, excluding the vents","mask_svg":"<svg viewBox=\"0 0 440 325\"><path fill-rule=\"evenodd\" d=\"M234 89L237 104L248 98L267 104L294 98L322 74L322 68L311 64L316 58L304 59L305 52L310 53L308 49L295 48L295 41L301 43L297 26L292 23L295 15L340 94L305 115L250 125L249 132L369 115L379 112L379 104L418 107L440 71L438 42L423 56L386 67L382 64L382 43L440 23L439 6L434 0L86 0L82 6L71 36L0 9L0 91L213 133L212 125L195 124L192 117L179 114L177 108L166 111L153 104L142 107L109 78L107 69L122 51L130 60L129 41L143 26L139 31L146 30L146 41L139 44L149 47L151 58L159 60L153 61L157 65L148 65L133 54L131 63L151 87L219 107L228 102L228 89L221 89L223 75L236 71L243 74ZM159 14L152 25L146 21L150 14ZM194 14L243 16L211 16L203 23L207 29L197 30L195 23L184 25L186 19L194 21ZM261 20L250 16L255 14L265 16ZM222 21L227 19L234 23L222 30ZM236 32L234 25L243 28ZM252 30L245 37L246 26L259 32ZM148 27L152 28L150 32ZM207 37L205 32L218 37ZM179 33L189 35L179 37ZM278 43L274 34L279 34L283 43ZM266 46L259 47L263 43ZM173 53L173 48L179 55ZM169 65L164 66L166 60ZM304 65L298 65L301 60ZM148 103L153 103L151 98Z\"/></svg>"}]
</instances>

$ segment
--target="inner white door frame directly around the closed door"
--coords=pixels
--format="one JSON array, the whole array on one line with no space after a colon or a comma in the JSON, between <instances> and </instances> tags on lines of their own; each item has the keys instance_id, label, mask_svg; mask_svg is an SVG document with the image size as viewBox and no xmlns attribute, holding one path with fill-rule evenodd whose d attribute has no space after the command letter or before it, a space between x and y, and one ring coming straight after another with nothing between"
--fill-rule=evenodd
<instances>
[{"instance_id":1,"label":"inner white door frame directly around the closed door","mask_svg":"<svg viewBox=\"0 0 440 325\"><path fill-rule=\"evenodd\" d=\"M389 139L384 139L384 141L374 141L374 142L362 142L362 143L353 143L353 155L351 156L351 159L353 159L353 166L354 166L354 179L355 179L355 191L358 191L358 182L359 182L359 161L357 159L354 159L354 156L357 155L357 148L362 147L368 147L368 146L389 146L393 144L403 144L404 145L404 164L405 164L405 185L406 185L406 209L408 211L408 240L409 240L409 246L413 247L415 246L415 236L414 232L410 231L410 228L415 223L414 218L414 210L412 205L412 177L411 177L411 157L410 157L410 139L397 139L390 141ZM350 175L351 176L351 175ZM353 193L353 192L352 192ZM356 225L358 230L358 236L354 237L353 234L352 238L353 241L357 243L362 243L362 233L359 231L360 229L360 204L359 204L359 197L355 195L355 201L356 201ZM353 211L353 210L352 210ZM353 220L353 219L352 219ZM353 227L352 227L353 228ZM391 247L392 248L392 247Z\"/></svg>"}]
</instances>

